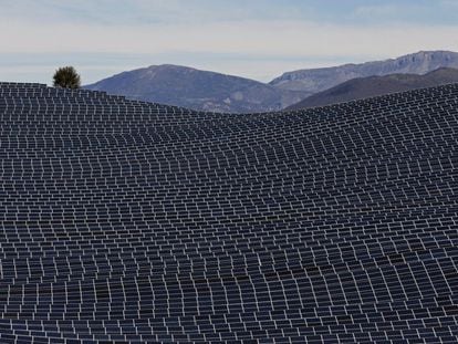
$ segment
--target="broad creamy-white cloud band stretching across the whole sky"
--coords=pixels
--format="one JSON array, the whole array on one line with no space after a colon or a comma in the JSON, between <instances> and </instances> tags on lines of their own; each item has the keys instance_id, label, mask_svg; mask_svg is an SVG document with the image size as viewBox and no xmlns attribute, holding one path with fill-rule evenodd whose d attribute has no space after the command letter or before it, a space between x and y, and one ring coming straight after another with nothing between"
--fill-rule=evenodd
<instances>
[{"instance_id":1,"label":"broad creamy-white cloud band stretching across the whole sky","mask_svg":"<svg viewBox=\"0 0 458 344\"><path fill-rule=\"evenodd\" d=\"M11 32L14 35L11 37ZM1 53L209 52L263 55L397 55L427 49L458 50L458 27L353 25L301 21L118 25L1 22Z\"/></svg>"}]
</instances>

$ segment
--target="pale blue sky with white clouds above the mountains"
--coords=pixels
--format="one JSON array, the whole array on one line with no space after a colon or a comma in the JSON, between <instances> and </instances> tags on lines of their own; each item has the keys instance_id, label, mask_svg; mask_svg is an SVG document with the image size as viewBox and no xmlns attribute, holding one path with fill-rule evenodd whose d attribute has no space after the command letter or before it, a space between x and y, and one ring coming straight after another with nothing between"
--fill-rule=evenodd
<instances>
[{"instance_id":1,"label":"pale blue sky with white clouds above the mountains","mask_svg":"<svg viewBox=\"0 0 458 344\"><path fill-rule=\"evenodd\" d=\"M458 0L0 0L0 80L83 84L180 64L268 82L283 72L458 51Z\"/></svg>"}]
</instances>

